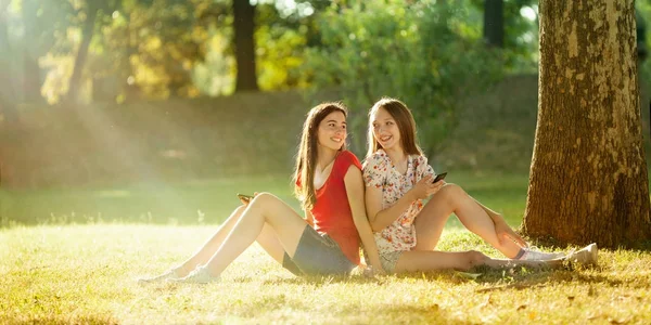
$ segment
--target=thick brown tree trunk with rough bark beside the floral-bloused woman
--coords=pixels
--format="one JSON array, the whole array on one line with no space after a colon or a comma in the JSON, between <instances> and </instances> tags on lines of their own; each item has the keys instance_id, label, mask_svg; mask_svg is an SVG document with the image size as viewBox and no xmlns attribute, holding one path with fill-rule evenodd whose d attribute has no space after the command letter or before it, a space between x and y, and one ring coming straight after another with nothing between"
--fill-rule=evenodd
<instances>
[{"instance_id":1,"label":"thick brown tree trunk with rough bark beside the floral-bloused woman","mask_svg":"<svg viewBox=\"0 0 651 325\"><path fill-rule=\"evenodd\" d=\"M651 238L635 29L634 0L540 1L526 234L603 247Z\"/></svg>"}]
</instances>

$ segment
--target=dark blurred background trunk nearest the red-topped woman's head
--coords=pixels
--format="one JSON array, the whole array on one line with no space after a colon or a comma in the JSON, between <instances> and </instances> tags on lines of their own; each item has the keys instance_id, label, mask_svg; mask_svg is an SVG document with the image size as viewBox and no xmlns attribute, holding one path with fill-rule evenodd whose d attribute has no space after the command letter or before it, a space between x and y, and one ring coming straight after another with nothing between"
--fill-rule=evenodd
<instances>
[{"instance_id":1,"label":"dark blurred background trunk nearest the red-topped woman's head","mask_svg":"<svg viewBox=\"0 0 651 325\"><path fill-rule=\"evenodd\" d=\"M233 26L235 30L235 61L238 81L235 91L258 90L255 70L255 8L248 0L233 0Z\"/></svg>"}]
</instances>

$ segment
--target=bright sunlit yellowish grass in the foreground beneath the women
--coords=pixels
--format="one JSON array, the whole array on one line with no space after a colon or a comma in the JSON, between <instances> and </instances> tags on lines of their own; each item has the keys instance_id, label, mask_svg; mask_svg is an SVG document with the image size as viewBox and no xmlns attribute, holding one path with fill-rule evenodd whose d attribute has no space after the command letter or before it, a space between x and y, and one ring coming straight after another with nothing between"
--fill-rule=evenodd
<instances>
[{"instance_id":1,"label":"bright sunlit yellowish grass in the foreground beneath the women","mask_svg":"<svg viewBox=\"0 0 651 325\"><path fill-rule=\"evenodd\" d=\"M601 252L595 270L298 278L253 246L210 285L138 285L184 259L215 226L92 224L5 229L0 323L651 322L651 256ZM447 231L445 249L480 248ZM493 253L493 252L492 252Z\"/></svg>"}]
</instances>

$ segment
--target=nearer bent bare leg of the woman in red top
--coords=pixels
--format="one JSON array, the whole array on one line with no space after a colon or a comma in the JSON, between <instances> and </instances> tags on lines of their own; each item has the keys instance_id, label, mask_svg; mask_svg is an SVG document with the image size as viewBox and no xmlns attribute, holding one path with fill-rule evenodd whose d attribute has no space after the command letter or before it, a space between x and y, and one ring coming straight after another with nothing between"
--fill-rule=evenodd
<instances>
[{"instance_id":1,"label":"nearer bent bare leg of the woman in red top","mask_svg":"<svg viewBox=\"0 0 651 325\"><path fill-rule=\"evenodd\" d=\"M307 223L292 208L278 197L263 193L257 195L232 231L226 237L217 252L207 262L207 271L220 274L263 233L268 224L277 234L284 251L293 257Z\"/></svg>"}]
</instances>

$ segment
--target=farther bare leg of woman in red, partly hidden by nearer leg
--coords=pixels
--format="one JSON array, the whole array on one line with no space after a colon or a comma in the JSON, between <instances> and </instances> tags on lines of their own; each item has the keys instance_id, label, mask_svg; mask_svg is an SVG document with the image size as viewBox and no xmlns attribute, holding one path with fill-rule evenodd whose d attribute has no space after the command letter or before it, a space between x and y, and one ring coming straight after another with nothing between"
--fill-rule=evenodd
<instances>
[{"instance_id":1,"label":"farther bare leg of woman in red, partly hidden by nearer leg","mask_svg":"<svg viewBox=\"0 0 651 325\"><path fill-rule=\"evenodd\" d=\"M240 206L228 217L228 219L219 226L217 232L210 237L192 257L186 260L181 265L177 266L177 274L186 276L197 265L203 265L208 262L210 257L215 255L219 246L224 243L228 234L242 217L246 206ZM284 249L277 238L273 229L265 224L263 231L257 236L256 242L271 256L275 260L282 263Z\"/></svg>"}]
</instances>

